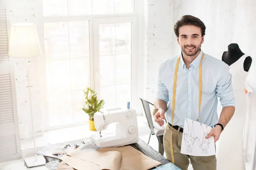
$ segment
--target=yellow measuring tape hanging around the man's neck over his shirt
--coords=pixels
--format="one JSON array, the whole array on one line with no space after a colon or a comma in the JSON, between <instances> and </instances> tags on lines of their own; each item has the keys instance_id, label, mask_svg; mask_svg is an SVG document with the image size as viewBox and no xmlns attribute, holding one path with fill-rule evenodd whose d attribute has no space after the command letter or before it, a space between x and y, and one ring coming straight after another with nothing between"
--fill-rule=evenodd
<instances>
[{"instance_id":1,"label":"yellow measuring tape hanging around the man's neck over his shirt","mask_svg":"<svg viewBox=\"0 0 256 170\"><path fill-rule=\"evenodd\" d=\"M200 66L199 66L199 114L198 114L198 119L197 120L199 120L200 109L201 109L201 101L202 101L202 60L203 59L204 59L204 53L202 55ZM172 94L172 125L173 125L173 118L174 118L177 72L178 72L179 62L180 62L180 57L178 57L178 59L177 59L176 67L175 67L175 74L174 74L173 94ZM173 146L172 146L172 134L171 134L171 155L172 155L172 163L175 164Z\"/></svg>"}]
</instances>

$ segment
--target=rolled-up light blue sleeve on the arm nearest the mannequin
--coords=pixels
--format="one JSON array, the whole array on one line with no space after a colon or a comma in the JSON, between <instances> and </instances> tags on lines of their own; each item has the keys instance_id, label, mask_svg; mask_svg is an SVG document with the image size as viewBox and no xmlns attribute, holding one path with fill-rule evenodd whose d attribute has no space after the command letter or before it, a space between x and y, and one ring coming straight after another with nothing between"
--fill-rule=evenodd
<instances>
[{"instance_id":1,"label":"rolled-up light blue sleeve on the arm nearest the mannequin","mask_svg":"<svg viewBox=\"0 0 256 170\"><path fill-rule=\"evenodd\" d=\"M216 94L220 98L221 106L223 108L225 106L235 107L236 105L231 83L232 75L230 74L229 69L230 67L227 64L222 66L216 86Z\"/></svg>"}]
</instances>

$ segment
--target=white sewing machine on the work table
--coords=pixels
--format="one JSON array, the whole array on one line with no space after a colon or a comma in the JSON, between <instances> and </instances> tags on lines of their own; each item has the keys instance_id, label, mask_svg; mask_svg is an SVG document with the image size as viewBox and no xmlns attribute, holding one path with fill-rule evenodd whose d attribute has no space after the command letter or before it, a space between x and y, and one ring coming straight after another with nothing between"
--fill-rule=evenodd
<instances>
[{"instance_id":1,"label":"white sewing machine on the work table","mask_svg":"<svg viewBox=\"0 0 256 170\"><path fill-rule=\"evenodd\" d=\"M115 130L108 132L108 125L114 122ZM92 135L90 139L98 147L119 147L138 142L137 116L133 109L114 108L96 112L94 124L99 134Z\"/></svg>"}]
</instances>

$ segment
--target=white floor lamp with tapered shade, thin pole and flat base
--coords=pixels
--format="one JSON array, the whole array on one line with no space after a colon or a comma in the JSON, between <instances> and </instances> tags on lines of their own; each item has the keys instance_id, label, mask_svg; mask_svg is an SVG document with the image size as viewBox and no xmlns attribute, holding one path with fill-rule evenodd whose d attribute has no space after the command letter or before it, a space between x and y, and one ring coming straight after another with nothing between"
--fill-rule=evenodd
<instances>
[{"instance_id":1,"label":"white floor lamp with tapered shade, thin pole and flat base","mask_svg":"<svg viewBox=\"0 0 256 170\"><path fill-rule=\"evenodd\" d=\"M14 58L26 58L27 59L27 77L29 83L29 58L41 56L40 42L37 34L37 30L34 23L17 23L12 24L10 37L9 37L9 57ZM35 131L33 124L33 114L31 107L31 94L30 94L30 83L29 83L29 105L30 115L32 121L32 131L35 147ZM36 155L24 158L25 165L27 167L35 167L45 164L44 156Z\"/></svg>"}]
</instances>

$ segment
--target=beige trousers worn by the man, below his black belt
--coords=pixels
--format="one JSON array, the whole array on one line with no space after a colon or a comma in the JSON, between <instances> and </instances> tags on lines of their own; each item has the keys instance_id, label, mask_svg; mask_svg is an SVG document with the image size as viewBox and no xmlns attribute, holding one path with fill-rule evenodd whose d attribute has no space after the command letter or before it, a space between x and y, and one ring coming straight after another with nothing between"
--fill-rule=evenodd
<instances>
[{"instance_id":1,"label":"beige trousers worn by the man, below his black belt","mask_svg":"<svg viewBox=\"0 0 256 170\"><path fill-rule=\"evenodd\" d=\"M180 130L180 127L179 129ZM166 152L166 158L172 161L171 156L171 134L174 152L175 165L181 170L187 170L189 166L189 158L194 170L216 170L216 157L214 156L190 156L180 153L181 140L183 133L177 132L167 123L163 134L163 146Z\"/></svg>"}]
</instances>

